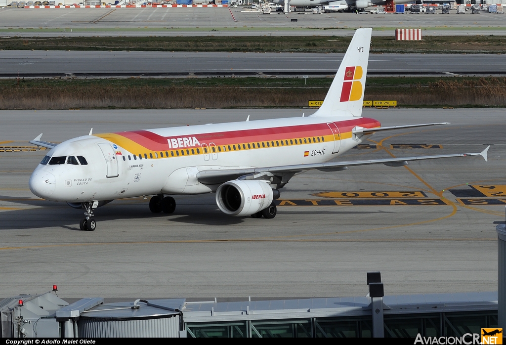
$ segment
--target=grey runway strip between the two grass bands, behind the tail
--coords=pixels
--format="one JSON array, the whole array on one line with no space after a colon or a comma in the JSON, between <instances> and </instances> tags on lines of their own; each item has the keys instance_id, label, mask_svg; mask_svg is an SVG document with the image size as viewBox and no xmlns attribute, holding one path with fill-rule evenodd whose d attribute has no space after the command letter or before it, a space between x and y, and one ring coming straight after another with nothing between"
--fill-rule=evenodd
<instances>
[{"instance_id":1,"label":"grey runway strip between the two grass bands, behind the tail","mask_svg":"<svg viewBox=\"0 0 506 345\"><path fill-rule=\"evenodd\" d=\"M0 77L326 76L344 54L4 51ZM368 75L503 75L498 54L371 54ZM479 61L479 64L477 64Z\"/></svg>"}]
</instances>

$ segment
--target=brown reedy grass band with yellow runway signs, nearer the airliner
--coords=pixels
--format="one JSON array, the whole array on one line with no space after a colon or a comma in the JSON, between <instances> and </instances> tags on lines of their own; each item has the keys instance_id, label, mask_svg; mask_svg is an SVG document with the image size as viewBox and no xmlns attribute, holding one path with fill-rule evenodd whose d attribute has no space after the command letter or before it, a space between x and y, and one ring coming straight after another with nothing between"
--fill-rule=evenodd
<instances>
[{"instance_id":1,"label":"brown reedy grass band with yellow runway signs, nearer the airliner","mask_svg":"<svg viewBox=\"0 0 506 345\"><path fill-rule=\"evenodd\" d=\"M0 109L307 107L332 78L0 80ZM371 77L364 99L405 107L504 107L504 77Z\"/></svg>"}]
</instances>

